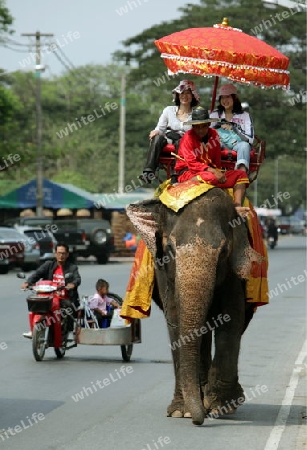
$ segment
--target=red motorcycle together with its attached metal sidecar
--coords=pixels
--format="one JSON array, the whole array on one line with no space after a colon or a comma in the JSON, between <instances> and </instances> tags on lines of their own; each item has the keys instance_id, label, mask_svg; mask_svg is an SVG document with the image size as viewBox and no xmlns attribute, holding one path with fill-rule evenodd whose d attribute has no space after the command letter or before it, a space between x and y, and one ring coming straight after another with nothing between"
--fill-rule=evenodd
<instances>
[{"instance_id":1,"label":"red motorcycle together with its attached metal sidecar","mask_svg":"<svg viewBox=\"0 0 307 450\"><path fill-rule=\"evenodd\" d=\"M25 278L25 275L18 273L17 277ZM68 307L66 310L60 304L61 299L64 299L61 296L64 288L65 286L55 286L52 281L40 280L23 289L32 291L27 297L27 304L35 360L42 361L49 347L54 348L57 358L63 358L66 350L80 344L119 345L123 361L130 361L133 344L142 342L140 320L134 320L129 326L122 323L110 326L110 318L106 317L100 328L88 306L88 296L83 296L77 310L77 319L74 319L74 339L69 340ZM122 305L123 300L118 295L108 293L108 296Z\"/></svg>"}]
</instances>

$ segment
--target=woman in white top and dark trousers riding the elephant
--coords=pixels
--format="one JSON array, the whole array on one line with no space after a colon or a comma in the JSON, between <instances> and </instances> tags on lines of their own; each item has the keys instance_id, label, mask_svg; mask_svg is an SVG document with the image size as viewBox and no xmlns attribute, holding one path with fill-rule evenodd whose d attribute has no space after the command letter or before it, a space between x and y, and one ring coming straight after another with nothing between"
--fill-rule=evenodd
<instances>
[{"instance_id":1,"label":"woman in white top and dark trousers riding the elephant","mask_svg":"<svg viewBox=\"0 0 307 450\"><path fill-rule=\"evenodd\" d=\"M158 166L162 148L167 142L178 147L183 134L191 128L184 123L192 119L192 108L199 104L199 94L193 81L183 80L172 91L176 106L164 108L157 126L149 133L150 146L140 179L150 183Z\"/></svg>"}]
</instances>

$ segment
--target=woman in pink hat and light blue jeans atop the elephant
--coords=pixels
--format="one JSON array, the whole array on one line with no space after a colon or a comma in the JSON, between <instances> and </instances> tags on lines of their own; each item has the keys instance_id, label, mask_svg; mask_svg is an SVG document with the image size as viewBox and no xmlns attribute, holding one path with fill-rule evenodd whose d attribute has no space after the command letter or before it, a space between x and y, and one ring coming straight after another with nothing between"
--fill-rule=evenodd
<instances>
[{"instance_id":1,"label":"woman in pink hat and light blue jeans atop the elephant","mask_svg":"<svg viewBox=\"0 0 307 450\"><path fill-rule=\"evenodd\" d=\"M248 112L243 111L241 102L237 95L237 88L233 84L224 84L219 90L219 105L217 110L210 114L210 118L216 118L225 124L212 123L214 128L221 127L224 130L231 130L237 136L231 149L237 152L237 163L235 168L248 172L250 151L254 141L254 127ZM221 147L229 148L226 141L223 142L223 135L220 134ZM229 141L228 141L229 142Z\"/></svg>"}]
</instances>

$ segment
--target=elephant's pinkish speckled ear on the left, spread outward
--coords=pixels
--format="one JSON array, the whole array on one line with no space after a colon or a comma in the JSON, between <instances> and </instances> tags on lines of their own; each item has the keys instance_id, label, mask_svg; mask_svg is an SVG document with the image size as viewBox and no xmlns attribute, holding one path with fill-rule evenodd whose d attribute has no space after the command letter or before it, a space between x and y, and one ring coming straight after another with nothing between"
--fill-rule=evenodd
<instances>
[{"instance_id":1,"label":"elephant's pinkish speckled ear on the left, spread outward","mask_svg":"<svg viewBox=\"0 0 307 450\"><path fill-rule=\"evenodd\" d=\"M160 200L154 198L132 203L126 210L127 216L153 256L157 251L156 235L159 228L161 206Z\"/></svg>"}]
</instances>

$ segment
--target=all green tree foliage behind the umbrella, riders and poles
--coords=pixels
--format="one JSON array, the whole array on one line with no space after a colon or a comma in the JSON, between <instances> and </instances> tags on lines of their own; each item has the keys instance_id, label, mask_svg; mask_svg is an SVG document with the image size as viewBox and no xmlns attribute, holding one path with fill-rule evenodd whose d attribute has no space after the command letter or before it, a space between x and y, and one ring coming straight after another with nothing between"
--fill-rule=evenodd
<instances>
[{"instance_id":1,"label":"all green tree foliage behind the umbrella, riders and poles","mask_svg":"<svg viewBox=\"0 0 307 450\"><path fill-rule=\"evenodd\" d=\"M10 31L12 20L3 8L0 0L0 39ZM268 9L262 0L200 0L198 5L181 8L178 19L127 39L112 64L76 67L55 78L42 76L44 177L90 192L117 191L121 79L126 73L125 184L139 186L137 175L143 168L149 131L162 109L171 104L174 86L183 78L192 79L202 104L208 107L213 87L212 78L170 77L154 40L186 28L210 27L226 16L231 26L256 34L291 61L290 93L239 87L241 100L250 105L256 134L267 141L267 160L258 178L258 204L275 193L276 156L288 155L279 160L278 171L279 190L291 196L286 212L302 203L306 206L306 33L302 32L306 24L299 11L279 20L277 14L285 10L289 11L280 6ZM9 153L21 156L20 164L0 172L1 195L6 188L35 178L38 154L34 74L16 72L0 80L0 158Z\"/></svg>"}]
</instances>

